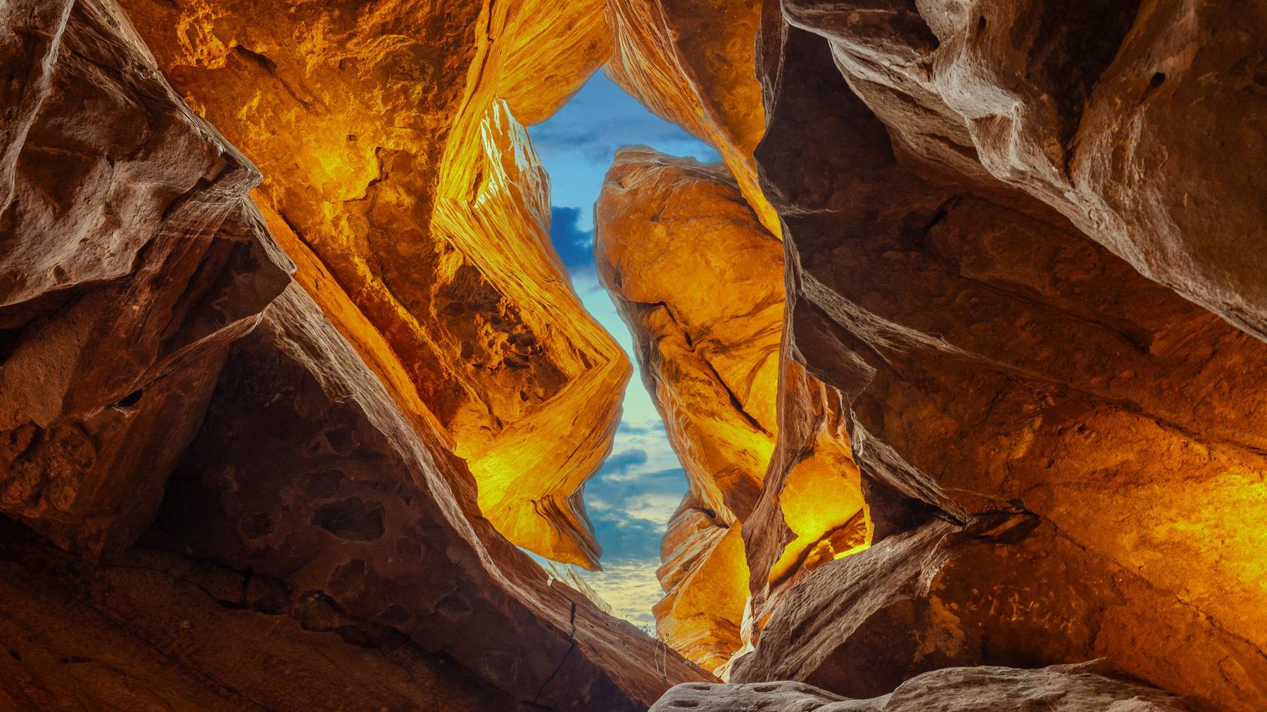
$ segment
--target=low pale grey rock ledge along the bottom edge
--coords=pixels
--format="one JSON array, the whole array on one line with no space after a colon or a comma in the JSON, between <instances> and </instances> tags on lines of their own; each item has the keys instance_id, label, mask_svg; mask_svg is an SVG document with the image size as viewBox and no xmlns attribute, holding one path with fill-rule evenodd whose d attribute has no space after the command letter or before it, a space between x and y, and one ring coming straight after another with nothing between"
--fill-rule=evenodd
<instances>
[{"instance_id":1,"label":"low pale grey rock ledge along the bottom edge","mask_svg":"<svg viewBox=\"0 0 1267 712\"><path fill-rule=\"evenodd\" d=\"M1109 675L1109 677L1106 677ZM1114 679L1100 661L1052 665L1038 670L1012 668L944 668L912 678L892 693L872 699L846 699L805 683L699 684L670 689L651 712L1005 712L1049 709L1163 711L1192 709L1173 694Z\"/></svg>"}]
</instances>

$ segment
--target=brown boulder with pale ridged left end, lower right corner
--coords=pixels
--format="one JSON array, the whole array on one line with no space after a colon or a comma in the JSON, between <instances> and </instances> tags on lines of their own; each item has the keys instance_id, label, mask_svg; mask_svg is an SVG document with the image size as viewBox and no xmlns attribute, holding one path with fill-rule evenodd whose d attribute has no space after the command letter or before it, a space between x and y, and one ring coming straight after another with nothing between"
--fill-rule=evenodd
<instances>
[{"instance_id":1,"label":"brown boulder with pale ridged left end, lower right corner","mask_svg":"<svg viewBox=\"0 0 1267 712\"><path fill-rule=\"evenodd\" d=\"M933 521L815 569L731 682L877 697L929 670L1107 658L1131 677L1256 709L1259 650L1033 514Z\"/></svg>"}]
</instances>

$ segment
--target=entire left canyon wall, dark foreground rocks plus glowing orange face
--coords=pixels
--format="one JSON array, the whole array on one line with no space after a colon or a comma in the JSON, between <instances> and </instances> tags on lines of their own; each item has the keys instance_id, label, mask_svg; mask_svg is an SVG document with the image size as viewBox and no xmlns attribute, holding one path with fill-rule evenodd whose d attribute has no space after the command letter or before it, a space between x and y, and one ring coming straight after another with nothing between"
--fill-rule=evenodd
<instances>
[{"instance_id":1,"label":"entire left canyon wall, dark foreground rocks plus glowing orange face","mask_svg":"<svg viewBox=\"0 0 1267 712\"><path fill-rule=\"evenodd\" d=\"M597 565L579 493L628 375L513 115L603 61L602 6L129 10L3 10L0 704L639 711L713 679L516 546Z\"/></svg>"}]
</instances>

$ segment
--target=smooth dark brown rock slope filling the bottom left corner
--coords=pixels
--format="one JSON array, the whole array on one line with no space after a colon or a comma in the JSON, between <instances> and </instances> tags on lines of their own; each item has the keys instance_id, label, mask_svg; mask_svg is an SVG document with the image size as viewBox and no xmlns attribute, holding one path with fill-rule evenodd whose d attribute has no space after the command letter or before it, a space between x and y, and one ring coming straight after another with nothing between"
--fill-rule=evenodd
<instances>
[{"instance_id":1,"label":"smooth dark brown rock slope filling the bottom left corner","mask_svg":"<svg viewBox=\"0 0 1267 712\"><path fill-rule=\"evenodd\" d=\"M5 709L517 709L319 593L151 547L94 565L0 527Z\"/></svg>"}]
</instances>

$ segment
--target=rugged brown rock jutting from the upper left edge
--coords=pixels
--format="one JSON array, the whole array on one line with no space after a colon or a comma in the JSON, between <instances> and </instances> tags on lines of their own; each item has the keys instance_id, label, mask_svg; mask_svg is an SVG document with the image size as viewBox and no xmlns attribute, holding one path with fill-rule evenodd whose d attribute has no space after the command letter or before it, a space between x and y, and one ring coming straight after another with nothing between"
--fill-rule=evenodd
<instances>
[{"instance_id":1,"label":"rugged brown rock jutting from the upper left edge","mask_svg":"<svg viewBox=\"0 0 1267 712\"><path fill-rule=\"evenodd\" d=\"M95 556L150 526L226 346L293 267L260 174L113 3L3 13L0 511Z\"/></svg>"}]
</instances>

